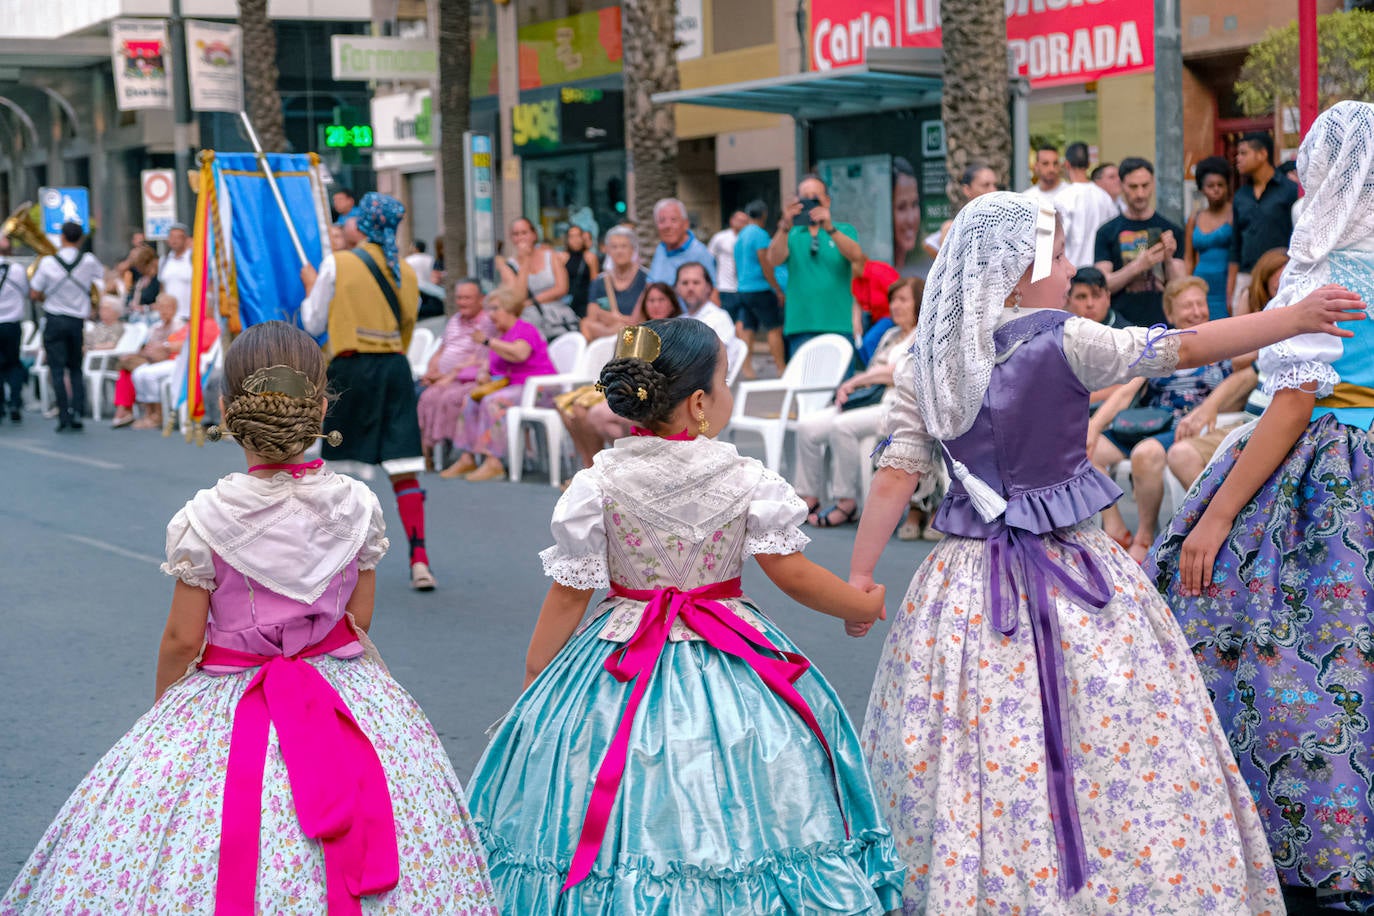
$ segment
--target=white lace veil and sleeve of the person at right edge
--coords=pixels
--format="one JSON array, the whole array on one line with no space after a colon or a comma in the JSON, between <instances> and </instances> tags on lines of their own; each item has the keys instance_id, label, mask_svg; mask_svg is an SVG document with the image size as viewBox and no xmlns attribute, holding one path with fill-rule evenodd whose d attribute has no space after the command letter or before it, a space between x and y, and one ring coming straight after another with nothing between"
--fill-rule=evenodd
<instances>
[{"instance_id":1,"label":"white lace veil and sleeve of the person at right edge","mask_svg":"<svg viewBox=\"0 0 1374 916\"><path fill-rule=\"evenodd\" d=\"M1331 251L1369 247L1374 235L1374 106L1340 102L1323 111L1298 148L1297 176L1305 205L1270 309L1296 305L1330 283ZM1265 393L1312 390L1315 385L1316 397L1326 397L1341 380L1330 364L1342 352L1341 339L1329 334L1304 334L1264 347L1259 369Z\"/></svg>"}]
</instances>

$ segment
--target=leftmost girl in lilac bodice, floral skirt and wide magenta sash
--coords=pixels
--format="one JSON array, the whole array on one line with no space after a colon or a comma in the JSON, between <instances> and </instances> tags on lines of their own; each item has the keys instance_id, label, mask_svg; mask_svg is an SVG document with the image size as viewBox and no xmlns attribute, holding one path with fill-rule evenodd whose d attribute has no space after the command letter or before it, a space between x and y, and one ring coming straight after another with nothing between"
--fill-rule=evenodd
<instances>
[{"instance_id":1,"label":"leftmost girl in lilac bodice, floral skirt and wide magenta sash","mask_svg":"<svg viewBox=\"0 0 1374 916\"><path fill-rule=\"evenodd\" d=\"M96 764L0 913L495 916L434 729L367 639L382 508L304 461L324 358L280 321L224 360L249 470L168 526L153 709Z\"/></svg>"}]
</instances>

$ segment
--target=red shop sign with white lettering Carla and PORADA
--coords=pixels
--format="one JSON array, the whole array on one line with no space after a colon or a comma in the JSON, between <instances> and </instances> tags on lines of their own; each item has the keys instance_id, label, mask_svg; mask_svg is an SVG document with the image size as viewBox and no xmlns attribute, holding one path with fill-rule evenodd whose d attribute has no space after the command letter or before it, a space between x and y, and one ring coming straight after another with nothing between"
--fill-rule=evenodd
<instances>
[{"instance_id":1,"label":"red shop sign with white lettering Carla and PORADA","mask_svg":"<svg viewBox=\"0 0 1374 916\"><path fill-rule=\"evenodd\" d=\"M1007 47L1033 87L1154 69L1153 0L1006 0ZM818 70L864 62L868 48L938 48L940 0L812 0Z\"/></svg>"}]
</instances>

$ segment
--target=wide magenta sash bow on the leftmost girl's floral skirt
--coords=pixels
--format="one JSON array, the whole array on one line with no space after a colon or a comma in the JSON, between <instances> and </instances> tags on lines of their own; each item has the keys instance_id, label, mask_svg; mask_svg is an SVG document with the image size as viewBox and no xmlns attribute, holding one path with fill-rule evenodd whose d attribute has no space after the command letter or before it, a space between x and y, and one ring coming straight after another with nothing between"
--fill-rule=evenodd
<instances>
[{"instance_id":1,"label":"wide magenta sash bow on the leftmost girl's floral skirt","mask_svg":"<svg viewBox=\"0 0 1374 916\"><path fill-rule=\"evenodd\" d=\"M262 828L268 726L291 783L301 829L324 849L330 916L359 916L359 898L400 880L386 772L344 698L306 658L356 643L348 621L297 655L253 655L206 645L201 665L258 667L234 710L220 820L217 916L253 916Z\"/></svg>"}]
</instances>

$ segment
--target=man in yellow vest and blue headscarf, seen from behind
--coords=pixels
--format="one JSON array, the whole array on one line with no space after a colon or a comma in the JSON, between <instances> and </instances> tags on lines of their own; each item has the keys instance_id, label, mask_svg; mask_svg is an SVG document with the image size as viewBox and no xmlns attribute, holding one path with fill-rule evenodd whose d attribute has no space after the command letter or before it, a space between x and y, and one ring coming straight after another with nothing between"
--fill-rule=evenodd
<instances>
[{"instance_id":1,"label":"man in yellow vest and blue headscarf, seen from behind","mask_svg":"<svg viewBox=\"0 0 1374 916\"><path fill-rule=\"evenodd\" d=\"M425 490L416 479L425 459L405 358L420 294L415 271L396 253L396 227L404 216L393 196L363 196L344 218L352 250L324 258L319 273L301 268L306 291L301 324L316 336L328 331L328 382L338 400L324 417L324 431L337 430L344 441L326 444L324 457L361 477L381 466L392 478L411 547L411 586L427 592L434 574L425 552Z\"/></svg>"}]
</instances>

